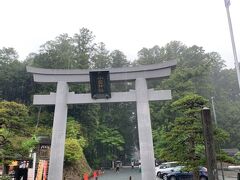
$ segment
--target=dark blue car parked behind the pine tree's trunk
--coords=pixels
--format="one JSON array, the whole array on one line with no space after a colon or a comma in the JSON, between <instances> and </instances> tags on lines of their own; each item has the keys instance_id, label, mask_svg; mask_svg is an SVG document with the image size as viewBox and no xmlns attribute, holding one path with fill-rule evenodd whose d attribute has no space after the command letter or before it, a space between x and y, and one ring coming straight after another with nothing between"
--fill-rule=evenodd
<instances>
[{"instance_id":1,"label":"dark blue car parked behind the pine tree's trunk","mask_svg":"<svg viewBox=\"0 0 240 180\"><path fill-rule=\"evenodd\" d=\"M167 180L192 180L192 172L177 171L167 175ZM199 170L199 180L208 180L207 168L201 167Z\"/></svg>"}]
</instances>

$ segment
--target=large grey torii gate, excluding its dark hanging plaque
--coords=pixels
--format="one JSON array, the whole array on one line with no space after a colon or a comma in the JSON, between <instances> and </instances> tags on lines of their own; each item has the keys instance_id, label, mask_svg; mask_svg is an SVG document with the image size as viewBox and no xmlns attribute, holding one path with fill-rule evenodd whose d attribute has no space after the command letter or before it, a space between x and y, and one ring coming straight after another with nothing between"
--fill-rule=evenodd
<instances>
[{"instance_id":1,"label":"large grey torii gate, excluding its dark hanging plaque","mask_svg":"<svg viewBox=\"0 0 240 180\"><path fill-rule=\"evenodd\" d=\"M149 101L170 100L172 97L171 90L155 91L148 89L146 79L167 77L171 74L171 67L175 65L176 61L173 60L161 64L107 69L111 82L135 81L135 90L130 90L129 92L112 92L111 98L109 99L92 99L91 94L75 94L68 90L68 82L88 83L90 81L89 72L106 71L106 69L77 70L27 67L27 72L33 74L35 82L57 83L56 93L50 93L50 95L34 95L33 98L34 105L55 105L48 179L63 179L68 104L135 101L137 104L142 180L155 180Z\"/></svg>"}]
</instances>

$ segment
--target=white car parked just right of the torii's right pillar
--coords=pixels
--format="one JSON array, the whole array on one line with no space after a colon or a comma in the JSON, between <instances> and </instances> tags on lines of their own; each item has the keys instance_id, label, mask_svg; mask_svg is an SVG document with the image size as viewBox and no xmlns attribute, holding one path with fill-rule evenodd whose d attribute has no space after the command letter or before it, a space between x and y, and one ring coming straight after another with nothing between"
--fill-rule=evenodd
<instances>
[{"instance_id":1,"label":"white car parked just right of the torii's right pillar","mask_svg":"<svg viewBox=\"0 0 240 180\"><path fill-rule=\"evenodd\" d=\"M179 171L182 167L183 166L179 166L179 164L175 161L162 163L155 168L156 176L165 180L169 173Z\"/></svg>"}]
</instances>

